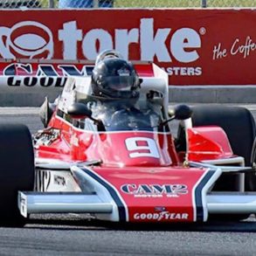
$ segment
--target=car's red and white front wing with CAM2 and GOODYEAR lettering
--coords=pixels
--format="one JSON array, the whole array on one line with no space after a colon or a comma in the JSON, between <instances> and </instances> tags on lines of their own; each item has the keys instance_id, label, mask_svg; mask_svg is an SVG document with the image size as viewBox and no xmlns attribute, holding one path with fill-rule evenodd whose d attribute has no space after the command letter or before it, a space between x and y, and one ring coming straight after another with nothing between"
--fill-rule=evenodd
<instances>
[{"instance_id":1,"label":"car's red and white front wing with CAM2 and GOODYEAR lettering","mask_svg":"<svg viewBox=\"0 0 256 256\"><path fill-rule=\"evenodd\" d=\"M168 175L163 175L164 169L161 176L143 170L143 176L136 176L135 181L132 171L124 170L123 175L116 170L100 172L100 168L81 164L57 166L60 164L44 163L38 168L51 168L59 176L69 171L80 191L19 191L18 206L24 217L29 213L91 213L114 222L193 222L207 221L210 214L256 213L254 192L211 191L223 171L252 171L245 168L206 165L201 176L197 170L186 170L187 179L181 183L184 170L171 170L169 180ZM196 174L197 179L190 185L188 181ZM54 181L53 176L52 181L48 180L49 184Z\"/></svg>"}]
</instances>

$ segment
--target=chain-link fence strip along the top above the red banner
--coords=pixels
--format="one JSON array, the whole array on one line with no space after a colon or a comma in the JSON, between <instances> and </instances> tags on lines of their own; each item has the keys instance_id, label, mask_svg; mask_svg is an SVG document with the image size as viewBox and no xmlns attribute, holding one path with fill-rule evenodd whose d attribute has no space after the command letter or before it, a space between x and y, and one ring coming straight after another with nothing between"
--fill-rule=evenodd
<instances>
[{"instance_id":1,"label":"chain-link fence strip along the top above the red banner","mask_svg":"<svg viewBox=\"0 0 256 256\"><path fill-rule=\"evenodd\" d=\"M0 0L3 8L246 8L255 0Z\"/></svg>"}]
</instances>

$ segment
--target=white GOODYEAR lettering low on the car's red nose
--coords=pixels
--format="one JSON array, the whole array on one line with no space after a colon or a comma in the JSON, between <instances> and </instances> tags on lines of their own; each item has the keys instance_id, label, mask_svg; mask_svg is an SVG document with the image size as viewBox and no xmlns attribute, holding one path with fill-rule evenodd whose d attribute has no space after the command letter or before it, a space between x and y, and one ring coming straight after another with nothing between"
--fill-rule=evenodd
<instances>
[{"instance_id":1,"label":"white GOODYEAR lettering low on the car's red nose","mask_svg":"<svg viewBox=\"0 0 256 256\"><path fill-rule=\"evenodd\" d=\"M170 211L161 211L155 213L135 213L134 219L138 220L171 220L171 219L188 219L188 213L177 213L177 212L170 212Z\"/></svg>"}]
</instances>

